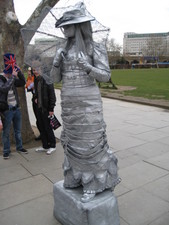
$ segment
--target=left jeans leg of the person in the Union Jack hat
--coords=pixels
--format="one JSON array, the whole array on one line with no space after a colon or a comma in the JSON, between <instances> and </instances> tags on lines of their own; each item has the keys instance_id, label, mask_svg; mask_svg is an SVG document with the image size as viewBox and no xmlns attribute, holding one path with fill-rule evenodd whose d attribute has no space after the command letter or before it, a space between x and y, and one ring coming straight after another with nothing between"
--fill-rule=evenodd
<instances>
[{"instance_id":1,"label":"left jeans leg of the person in the Union Jack hat","mask_svg":"<svg viewBox=\"0 0 169 225\"><path fill-rule=\"evenodd\" d=\"M8 110L4 112L3 132L2 132L3 154L10 153L9 134L10 134L12 118L13 118L13 111Z\"/></svg>"}]
</instances>

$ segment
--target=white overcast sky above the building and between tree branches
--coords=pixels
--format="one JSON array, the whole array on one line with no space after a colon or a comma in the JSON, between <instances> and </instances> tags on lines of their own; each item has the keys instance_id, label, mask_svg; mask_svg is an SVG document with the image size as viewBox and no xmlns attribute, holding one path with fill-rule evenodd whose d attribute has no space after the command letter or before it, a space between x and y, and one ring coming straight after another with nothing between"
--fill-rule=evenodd
<instances>
[{"instance_id":1,"label":"white overcast sky above the building and between tree branches","mask_svg":"<svg viewBox=\"0 0 169 225\"><path fill-rule=\"evenodd\" d=\"M78 0L60 0L56 5L74 5ZM14 0L19 22L24 24L41 0ZM110 28L109 38L123 44L125 32L169 32L169 0L84 0L88 11Z\"/></svg>"}]
</instances>

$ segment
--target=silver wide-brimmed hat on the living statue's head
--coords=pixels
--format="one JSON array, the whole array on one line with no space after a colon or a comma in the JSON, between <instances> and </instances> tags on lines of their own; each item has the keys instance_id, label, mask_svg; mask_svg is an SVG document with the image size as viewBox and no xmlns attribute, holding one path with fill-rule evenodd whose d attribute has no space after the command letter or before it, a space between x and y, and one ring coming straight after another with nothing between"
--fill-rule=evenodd
<instances>
[{"instance_id":1,"label":"silver wide-brimmed hat on the living statue's head","mask_svg":"<svg viewBox=\"0 0 169 225\"><path fill-rule=\"evenodd\" d=\"M63 27L70 24L83 23L95 20L91 15L86 15L84 8L74 9L67 11L55 23L55 27Z\"/></svg>"}]
</instances>

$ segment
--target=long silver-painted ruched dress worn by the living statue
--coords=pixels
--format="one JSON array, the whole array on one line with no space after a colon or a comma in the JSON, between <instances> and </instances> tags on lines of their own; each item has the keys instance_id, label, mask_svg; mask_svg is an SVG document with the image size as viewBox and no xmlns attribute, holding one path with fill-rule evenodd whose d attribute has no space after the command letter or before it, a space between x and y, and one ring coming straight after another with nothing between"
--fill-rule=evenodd
<instances>
[{"instance_id":1,"label":"long silver-painted ruched dress worn by the living statue","mask_svg":"<svg viewBox=\"0 0 169 225\"><path fill-rule=\"evenodd\" d=\"M110 70L107 53L94 45L93 65L89 74L77 65L75 46L62 61L60 73L53 70L57 81L62 80L61 106L64 148L64 186L83 186L84 191L102 192L119 183L117 159L106 137L102 100L95 79L108 81Z\"/></svg>"}]
</instances>

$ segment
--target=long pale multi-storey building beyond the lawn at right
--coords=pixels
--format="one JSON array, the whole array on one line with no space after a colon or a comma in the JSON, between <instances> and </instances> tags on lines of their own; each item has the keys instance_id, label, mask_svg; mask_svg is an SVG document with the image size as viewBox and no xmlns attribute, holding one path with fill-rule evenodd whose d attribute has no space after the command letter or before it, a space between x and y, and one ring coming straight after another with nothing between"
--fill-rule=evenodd
<instances>
[{"instance_id":1,"label":"long pale multi-storey building beyond the lawn at right","mask_svg":"<svg viewBox=\"0 0 169 225\"><path fill-rule=\"evenodd\" d=\"M124 33L123 54L129 56L167 56L169 55L169 32Z\"/></svg>"}]
</instances>

